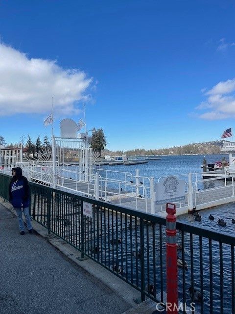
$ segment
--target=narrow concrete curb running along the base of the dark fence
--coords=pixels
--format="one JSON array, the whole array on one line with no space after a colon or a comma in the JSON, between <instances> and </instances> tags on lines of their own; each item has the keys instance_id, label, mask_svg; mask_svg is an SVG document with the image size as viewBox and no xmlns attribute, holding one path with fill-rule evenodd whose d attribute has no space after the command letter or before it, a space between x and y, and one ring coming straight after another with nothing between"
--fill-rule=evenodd
<instances>
[{"instance_id":1,"label":"narrow concrete curb running along the base of the dark fence","mask_svg":"<svg viewBox=\"0 0 235 314\"><path fill-rule=\"evenodd\" d=\"M16 212L12 208L12 205L9 202L4 201L0 197L0 204L11 211L15 216ZM63 253L67 258L69 258L72 262L76 263L78 266L82 267L89 274L99 279L106 286L115 291L122 299L124 299L127 303L130 304L130 307L135 306L136 303L133 301L134 299L140 298L140 292L135 288L132 288L117 276L109 272L107 269L94 262L91 259L87 259L84 261L79 261L78 258L81 257L81 253L72 247L69 243L61 239L60 237L50 234L48 235L48 231L45 227L32 220L32 227L35 233L41 235L43 238L47 239L47 241L53 245L56 249L58 249L61 253Z\"/></svg>"}]
</instances>

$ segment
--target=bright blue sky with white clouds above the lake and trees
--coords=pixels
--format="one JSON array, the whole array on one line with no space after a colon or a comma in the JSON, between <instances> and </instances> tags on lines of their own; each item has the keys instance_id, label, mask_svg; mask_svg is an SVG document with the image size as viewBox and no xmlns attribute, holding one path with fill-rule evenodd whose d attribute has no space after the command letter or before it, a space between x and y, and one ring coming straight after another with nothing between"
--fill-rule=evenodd
<instances>
[{"instance_id":1,"label":"bright blue sky with white clouds above the lake and trees","mask_svg":"<svg viewBox=\"0 0 235 314\"><path fill-rule=\"evenodd\" d=\"M0 135L50 137L52 97L56 136L85 104L110 150L219 140L235 130L235 2L0 1Z\"/></svg>"}]
</instances>

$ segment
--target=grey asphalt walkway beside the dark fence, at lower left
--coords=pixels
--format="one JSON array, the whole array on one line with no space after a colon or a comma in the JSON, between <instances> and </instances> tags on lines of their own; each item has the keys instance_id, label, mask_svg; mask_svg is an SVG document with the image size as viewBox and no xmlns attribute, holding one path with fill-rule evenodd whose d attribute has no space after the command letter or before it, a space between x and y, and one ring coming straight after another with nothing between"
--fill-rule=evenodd
<instances>
[{"instance_id":1,"label":"grey asphalt walkway beside the dark fence, at lower left","mask_svg":"<svg viewBox=\"0 0 235 314\"><path fill-rule=\"evenodd\" d=\"M0 313L120 314L131 306L0 205Z\"/></svg>"}]
</instances>

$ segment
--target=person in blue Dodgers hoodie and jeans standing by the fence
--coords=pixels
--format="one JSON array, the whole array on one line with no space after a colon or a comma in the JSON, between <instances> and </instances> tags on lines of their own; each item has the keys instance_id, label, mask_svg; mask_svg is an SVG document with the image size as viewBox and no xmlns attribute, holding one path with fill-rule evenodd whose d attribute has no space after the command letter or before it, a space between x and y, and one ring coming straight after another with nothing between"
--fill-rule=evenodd
<instances>
[{"instance_id":1,"label":"person in blue Dodgers hoodie and jeans standing by the fence","mask_svg":"<svg viewBox=\"0 0 235 314\"><path fill-rule=\"evenodd\" d=\"M27 224L28 233L32 234L32 224L29 216L29 188L28 180L23 176L21 167L12 168L12 180L9 184L9 201L16 210L20 234L24 235L22 212Z\"/></svg>"}]
</instances>

